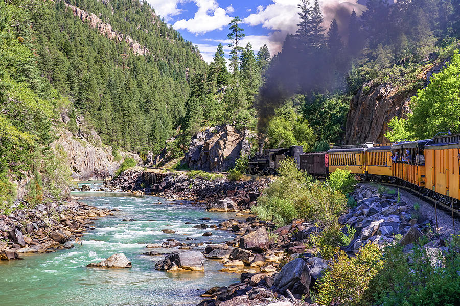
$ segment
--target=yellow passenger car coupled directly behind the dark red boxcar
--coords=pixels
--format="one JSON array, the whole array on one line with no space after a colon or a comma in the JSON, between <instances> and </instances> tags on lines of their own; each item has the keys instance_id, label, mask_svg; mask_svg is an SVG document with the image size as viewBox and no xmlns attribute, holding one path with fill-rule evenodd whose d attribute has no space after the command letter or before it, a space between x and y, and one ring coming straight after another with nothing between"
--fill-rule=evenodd
<instances>
[{"instance_id":1,"label":"yellow passenger car coupled directly behind the dark red boxcar","mask_svg":"<svg viewBox=\"0 0 460 306\"><path fill-rule=\"evenodd\" d=\"M373 143L359 145L338 145L333 146L328 151L329 172L335 169L344 169L348 166L353 174L365 174L366 168L366 150L372 147Z\"/></svg>"}]
</instances>

